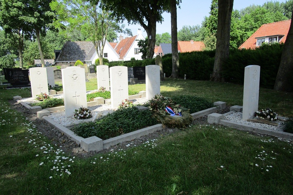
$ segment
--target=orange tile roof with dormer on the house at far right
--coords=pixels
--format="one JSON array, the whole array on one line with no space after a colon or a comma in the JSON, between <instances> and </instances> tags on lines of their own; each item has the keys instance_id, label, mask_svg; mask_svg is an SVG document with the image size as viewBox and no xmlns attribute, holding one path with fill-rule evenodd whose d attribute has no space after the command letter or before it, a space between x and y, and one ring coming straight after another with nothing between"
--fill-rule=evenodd
<instances>
[{"instance_id":1,"label":"orange tile roof with dormer on the house at far right","mask_svg":"<svg viewBox=\"0 0 293 195\"><path fill-rule=\"evenodd\" d=\"M285 35L280 42L286 41L287 34L290 28L291 20L284 20L269 24L263 24L258 30L255 31L239 48L253 49L256 47L256 37L267 37L274 35Z\"/></svg>"}]
</instances>

